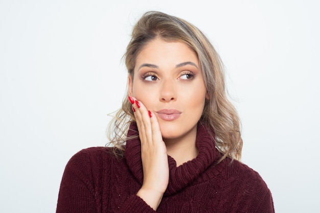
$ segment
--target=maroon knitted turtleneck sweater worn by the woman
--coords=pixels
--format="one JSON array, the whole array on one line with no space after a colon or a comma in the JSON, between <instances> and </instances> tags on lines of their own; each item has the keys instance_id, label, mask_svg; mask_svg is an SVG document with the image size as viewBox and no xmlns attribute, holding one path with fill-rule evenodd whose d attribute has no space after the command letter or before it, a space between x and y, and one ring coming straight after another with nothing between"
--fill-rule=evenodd
<instances>
[{"instance_id":1,"label":"maroon knitted turtleneck sweater worn by the woman","mask_svg":"<svg viewBox=\"0 0 320 213\"><path fill-rule=\"evenodd\" d=\"M137 135L131 124L128 135ZM208 131L198 126L198 156L179 167L170 156L169 185L158 212L274 212L260 175L238 161L224 159ZM140 140L127 141L118 159L106 147L83 149L67 163L57 212L154 212L136 196L143 183Z\"/></svg>"}]
</instances>

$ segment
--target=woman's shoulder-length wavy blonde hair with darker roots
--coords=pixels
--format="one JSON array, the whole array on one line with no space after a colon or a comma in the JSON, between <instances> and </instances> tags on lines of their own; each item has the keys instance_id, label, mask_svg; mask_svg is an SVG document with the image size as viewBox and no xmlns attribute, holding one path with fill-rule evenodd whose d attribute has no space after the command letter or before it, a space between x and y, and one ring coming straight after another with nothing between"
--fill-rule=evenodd
<instances>
[{"instance_id":1,"label":"woman's shoulder-length wavy blonde hair with darker roots","mask_svg":"<svg viewBox=\"0 0 320 213\"><path fill-rule=\"evenodd\" d=\"M204 34L191 23L162 12L146 12L134 25L131 40L124 55L128 74L133 78L136 57L144 46L155 38L165 41L178 41L193 49L199 59L205 86L210 99L205 100L200 118L214 130L213 140L216 148L225 157L241 158L242 138L240 120L233 104L227 98L224 82L224 71L221 59ZM131 122L135 121L128 94L124 96L122 108L109 124L109 145L116 155L123 156L127 131ZM138 135L135 137L139 137Z\"/></svg>"}]
</instances>

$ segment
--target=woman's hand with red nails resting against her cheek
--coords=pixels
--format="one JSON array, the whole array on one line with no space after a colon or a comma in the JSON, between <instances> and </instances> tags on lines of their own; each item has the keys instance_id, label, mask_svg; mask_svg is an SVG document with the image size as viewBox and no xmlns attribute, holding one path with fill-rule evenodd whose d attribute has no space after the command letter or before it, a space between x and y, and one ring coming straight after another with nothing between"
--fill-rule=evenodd
<instances>
[{"instance_id":1,"label":"woman's hand with red nails resting against her cheek","mask_svg":"<svg viewBox=\"0 0 320 213\"><path fill-rule=\"evenodd\" d=\"M169 183L167 148L155 115L142 102L129 100L138 125L143 166L143 184L136 195L156 210Z\"/></svg>"}]
</instances>

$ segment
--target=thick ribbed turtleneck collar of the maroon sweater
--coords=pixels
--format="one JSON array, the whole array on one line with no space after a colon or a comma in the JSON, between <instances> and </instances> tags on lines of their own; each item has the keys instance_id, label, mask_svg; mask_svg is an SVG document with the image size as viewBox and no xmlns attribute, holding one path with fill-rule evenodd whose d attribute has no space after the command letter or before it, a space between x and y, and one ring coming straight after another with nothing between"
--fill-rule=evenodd
<instances>
[{"instance_id":1,"label":"thick ribbed turtleneck collar of the maroon sweater","mask_svg":"<svg viewBox=\"0 0 320 213\"><path fill-rule=\"evenodd\" d=\"M129 127L128 137L138 135L138 127L135 122L132 122ZM202 124L198 124L196 145L199 150L197 157L178 167L176 167L175 160L171 156L168 156L169 184L165 192L166 196L175 194L187 187L220 156L219 152L215 148L214 140L212 140L209 131ZM141 161L141 143L139 138L127 141L125 158L133 176L142 184L143 168Z\"/></svg>"}]
</instances>

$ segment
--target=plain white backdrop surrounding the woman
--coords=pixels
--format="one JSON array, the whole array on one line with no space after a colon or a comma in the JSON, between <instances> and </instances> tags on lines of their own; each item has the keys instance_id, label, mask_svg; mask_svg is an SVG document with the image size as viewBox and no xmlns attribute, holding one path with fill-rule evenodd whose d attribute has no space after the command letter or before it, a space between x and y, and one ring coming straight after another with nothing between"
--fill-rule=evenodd
<instances>
[{"instance_id":1,"label":"plain white backdrop surrounding the woman","mask_svg":"<svg viewBox=\"0 0 320 213\"><path fill-rule=\"evenodd\" d=\"M315 0L1 1L0 211L55 212L68 159L107 143L132 25L159 10L194 23L220 53L242 160L276 212L320 212L319 9Z\"/></svg>"}]
</instances>

